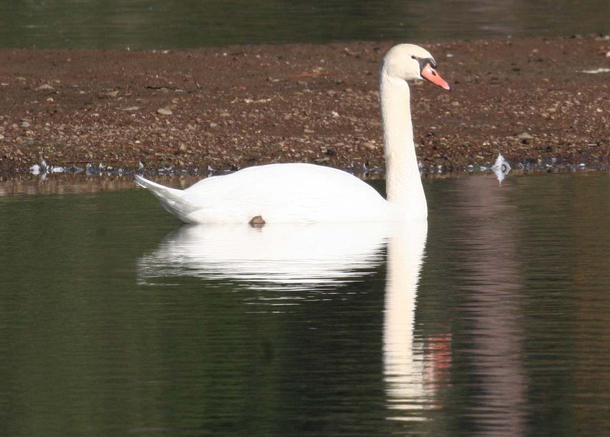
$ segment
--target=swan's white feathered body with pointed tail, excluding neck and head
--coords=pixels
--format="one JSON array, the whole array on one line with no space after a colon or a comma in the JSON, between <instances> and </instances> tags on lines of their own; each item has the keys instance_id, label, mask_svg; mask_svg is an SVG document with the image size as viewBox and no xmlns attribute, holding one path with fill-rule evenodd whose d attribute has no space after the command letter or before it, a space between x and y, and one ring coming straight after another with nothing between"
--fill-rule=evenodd
<instances>
[{"instance_id":1,"label":"swan's white feathered body with pointed tail, excluding neck and head","mask_svg":"<svg viewBox=\"0 0 610 437\"><path fill-rule=\"evenodd\" d=\"M313 164L269 164L203 179L185 190L138 178L185 223L387 220L391 205L349 173Z\"/></svg>"}]
</instances>

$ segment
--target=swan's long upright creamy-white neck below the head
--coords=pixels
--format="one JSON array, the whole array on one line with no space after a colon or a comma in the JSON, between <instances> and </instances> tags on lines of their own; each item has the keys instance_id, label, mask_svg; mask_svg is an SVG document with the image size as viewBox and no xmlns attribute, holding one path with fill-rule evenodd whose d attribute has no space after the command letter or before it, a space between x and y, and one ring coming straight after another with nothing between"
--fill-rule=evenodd
<instances>
[{"instance_id":1,"label":"swan's long upright creamy-white neck below the head","mask_svg":"<svg viewBox=\"0 0 610 437\"><path fill-rule=\"evenodd\" d=\"M409 85L382 69L379 95L386 148L387 200L398 207L405 219L426 219L428 208L413 142Z\"/></svg>"}]
</instances>

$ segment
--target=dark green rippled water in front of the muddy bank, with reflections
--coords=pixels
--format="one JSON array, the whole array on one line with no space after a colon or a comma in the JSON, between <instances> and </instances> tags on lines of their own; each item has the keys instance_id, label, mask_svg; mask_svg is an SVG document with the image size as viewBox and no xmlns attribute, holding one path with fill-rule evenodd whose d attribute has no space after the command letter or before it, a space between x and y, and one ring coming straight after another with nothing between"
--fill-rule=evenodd
<instances>
[{"instance_id":1,"label":"dark green rippled water in front of the muddy bank, with reflections","mask_svg":"<svg viewBox=\"0 0 610 437\"><path fill-rule=\"evenodd\" d=\"M424 182L427 226L0 197L0 433L610 435L609 172Z\"/></svg>"}]
</instances>

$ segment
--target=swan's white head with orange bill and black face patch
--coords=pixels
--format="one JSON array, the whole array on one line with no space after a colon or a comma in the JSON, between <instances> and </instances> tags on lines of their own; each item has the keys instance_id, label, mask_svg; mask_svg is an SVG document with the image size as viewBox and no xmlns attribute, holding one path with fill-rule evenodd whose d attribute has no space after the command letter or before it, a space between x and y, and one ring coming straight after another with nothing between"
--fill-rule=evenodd
<instances>
[{"instance_id":1,"label":"swan's white head with orange bill and black face patch","mask_svg":"<svg viewBox=\"0 0 610 437\"><path fill-rule=\"evenodd\" d=\"M386 53L380 72L404 81L426 79L426 81L451 91L451 85L439 76L436 67L436 61L425 48L414 44L399 44Z\"/></svg>"}]
</instances>

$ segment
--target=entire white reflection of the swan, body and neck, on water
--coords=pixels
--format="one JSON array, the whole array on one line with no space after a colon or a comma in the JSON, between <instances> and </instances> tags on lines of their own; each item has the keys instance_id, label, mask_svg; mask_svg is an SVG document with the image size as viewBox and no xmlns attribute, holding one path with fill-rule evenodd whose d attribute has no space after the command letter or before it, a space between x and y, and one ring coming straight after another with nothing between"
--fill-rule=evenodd
<instances>
[{"instance_id":1,"label":"entire white reflection of the swan, body and neck, on water","mask_svg":"<svg viewBox=\"0 0 610 437\"><path fill-rule=\"evenodd\" d=\"M296 305L311 293L374 273L384 262L383 362L388 417L420 420L434 405L420 341L414 346L415 297L428 224L423 221L315 225L183 225L138 262L140 283L171 276L234 281L257 291L280 291L265 303ZM277 295L277 293L271 293ZM309 294L309 295L308 295ZM264 295L264 294L263 294ZM426 382L427 381L427 382Z\"/></svg>"}]
</instances>

